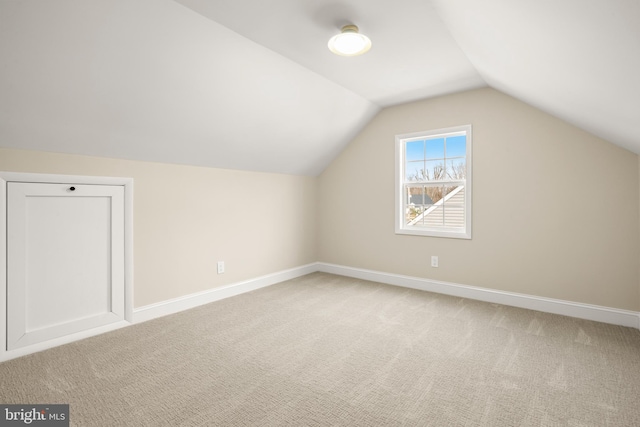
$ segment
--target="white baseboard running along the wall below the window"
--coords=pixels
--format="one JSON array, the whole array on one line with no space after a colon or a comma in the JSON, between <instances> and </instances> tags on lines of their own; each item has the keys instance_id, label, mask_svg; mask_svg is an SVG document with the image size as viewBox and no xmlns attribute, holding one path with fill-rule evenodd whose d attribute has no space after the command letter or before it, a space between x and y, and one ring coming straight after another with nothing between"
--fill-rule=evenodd
<instances>
[{"instance_id":1,"label":"white baseboard running along the wall below the window","mask_svg":"<svg viewBox=\"0 0 640 427\"><path fill-rule=\"evenodd\" d=\"M317 271L640 329L640 313L636 311L439 282L322 262L317 263Z\"/></svg>"}]
</instances>

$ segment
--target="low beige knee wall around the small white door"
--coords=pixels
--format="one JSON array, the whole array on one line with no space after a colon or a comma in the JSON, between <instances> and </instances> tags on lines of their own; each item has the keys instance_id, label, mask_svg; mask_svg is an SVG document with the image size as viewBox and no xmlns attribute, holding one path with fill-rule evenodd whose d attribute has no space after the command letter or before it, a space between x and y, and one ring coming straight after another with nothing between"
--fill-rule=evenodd
<instances>
[{"instance_id":1,"label":"low beige knee wall around the small white door","mask_svg":"<svg viewBox=\"0 0 640 427\"><path fill-rule=\"evenodd\" d=\"M134 179L135 307L317 258L315 178L9 149L0 170Z\"/></svg>"}]
</instances>

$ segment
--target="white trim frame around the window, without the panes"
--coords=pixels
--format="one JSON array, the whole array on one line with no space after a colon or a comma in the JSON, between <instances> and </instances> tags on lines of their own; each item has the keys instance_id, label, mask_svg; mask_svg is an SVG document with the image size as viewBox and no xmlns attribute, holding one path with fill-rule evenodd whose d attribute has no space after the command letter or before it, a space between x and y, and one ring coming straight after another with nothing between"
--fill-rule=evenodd
<instances>
[{"instance_id":1,"label":"white trim frame around the window, without the panes","mask_svg":"<svg viewBox=\"0 0 640 427\"><path fill-rule=\"evenodd\" d=\"M438 228L413 228L404 224L404 176L405 176L405 143L411 140L419 140L424 138L433 138L437 136L449 136L452 133L465 132L467 135L466 146L466 166L467 176L464 194L464 206L465 206L465 227L464 231L458 231L454 229L446 229L444 227ZM472 224L472 147L473 137L471 134L471 125L455 126L445 129L436 129L425 132L414 132L402 135L396 135L396 194L395 194L395 230L396 234L409 234L414 236L431 236L431 237L448 237L455 239L471 239L471 224Z\"/></svg>"}]
</instances>

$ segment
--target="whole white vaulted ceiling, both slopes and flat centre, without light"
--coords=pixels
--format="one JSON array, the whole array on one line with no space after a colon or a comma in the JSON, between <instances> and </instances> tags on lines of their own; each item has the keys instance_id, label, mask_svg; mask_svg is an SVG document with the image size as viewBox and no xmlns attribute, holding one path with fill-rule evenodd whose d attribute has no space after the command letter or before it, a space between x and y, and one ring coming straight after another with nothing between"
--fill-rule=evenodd
<instances>
[{"instance_id":1,"label":"whole white vaulted ceiling, both slopes and flat centre, without light","mask_svg":"<svg viewBox=\"0 0 640 427\"><path fill-rule=\"evenodd\" d=\"M373 47L327 49L354 23ZM0 0L0 147L317 175L491 86L640 153L637 0Z\"/></svg>"}]
</instances>

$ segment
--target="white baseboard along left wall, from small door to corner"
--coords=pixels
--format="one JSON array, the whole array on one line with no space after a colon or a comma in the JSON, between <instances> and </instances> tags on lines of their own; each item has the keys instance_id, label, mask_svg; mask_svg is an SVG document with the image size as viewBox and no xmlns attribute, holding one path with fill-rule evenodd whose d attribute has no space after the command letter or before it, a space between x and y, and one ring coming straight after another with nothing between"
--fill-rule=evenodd
<instances>
[{"instance_id":1,"label":"white baseboard along left wall, from small door to corner","mask_svg":"<svg viewBox=\"0 0 640 427\"><path fill-rule=\"evenodd\" d=\"M188 310L199 305L208 304L223 298L229 298L245 292L254 291L285 280L295 279L296 277L304 276L315 271L318 271L317 264L307 264L301 267L246 280L244 282L209 289L203 292L185 295L183 297L162 301L156 304L145 305L133 310L133 323L145 322L147 320L155 319L156 317Z\"/></svg>"}]
</instances>

